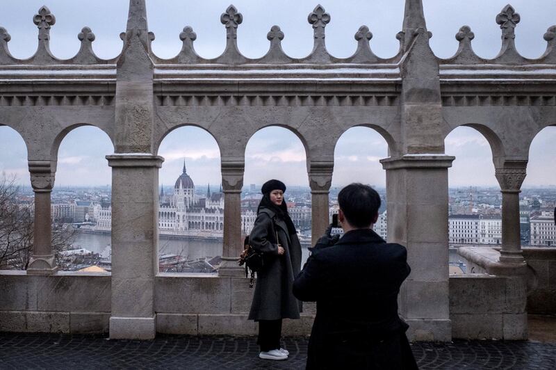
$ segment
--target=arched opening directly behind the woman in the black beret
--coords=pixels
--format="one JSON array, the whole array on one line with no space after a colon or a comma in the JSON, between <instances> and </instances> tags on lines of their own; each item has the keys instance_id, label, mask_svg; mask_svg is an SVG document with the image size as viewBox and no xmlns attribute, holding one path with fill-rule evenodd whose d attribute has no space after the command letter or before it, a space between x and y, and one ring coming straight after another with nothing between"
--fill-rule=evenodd
<instances>
[{"instance_id":1,"label":"arched opening directly behind the woman in the black beret","mask_svg":"<svg viewBox=\"0 0 556 370\"><path fill-rule=\"evenodd\" d=\"M286 184L284 200L300 239L304 262L311 246L311 190L306 153L300 138L283 127L261 129L247 143L241 193L242 234L250 234L263 196L261 186L270 179Z\"/></svg>"}]
</instances>

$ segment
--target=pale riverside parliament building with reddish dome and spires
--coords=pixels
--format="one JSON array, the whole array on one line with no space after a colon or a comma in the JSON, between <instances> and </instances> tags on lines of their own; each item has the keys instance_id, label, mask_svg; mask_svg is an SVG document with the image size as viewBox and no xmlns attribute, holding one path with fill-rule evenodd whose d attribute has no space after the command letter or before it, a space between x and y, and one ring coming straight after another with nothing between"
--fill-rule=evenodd
<instances>
[{"instance_id":1,"label":"pale riverside parliament building with reddish dome and spires","mask_svg":"<svg viewBox=\"0 0 556 370\"><path fill-rule=\"evenodd\" d=\"M222 189L212 192L208 186L206 195L195 193L193 179L186 171L174 184L172 194L165 194L163 188L159 195L158 228L160 234L167 236L188 236L204 239L222 239L224 230L224 193ZM94 230L109 231L112 227L112 207L95 207L93 218ZM256 218L256 209L241 211L241 228L249 234Z\"/></svg>"}]
</instances>

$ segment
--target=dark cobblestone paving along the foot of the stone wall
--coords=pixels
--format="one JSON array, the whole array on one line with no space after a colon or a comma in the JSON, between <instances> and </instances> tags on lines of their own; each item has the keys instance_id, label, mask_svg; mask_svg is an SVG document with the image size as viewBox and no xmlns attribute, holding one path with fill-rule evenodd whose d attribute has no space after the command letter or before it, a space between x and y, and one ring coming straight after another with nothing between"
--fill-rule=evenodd
<instances>
[{"instance_id":1,"label":"dark cobblestone paving along the foot of the stone wall","mask_svg":"<svg viewBox=\"0 0 556 370\"><path fill-rule=\"evenodd\" d=\"M305 337L284 339L286 361L260 360L254 337L0 333L0 369L304 369ZM412 344L420 369L556 369L556 344L462 341ZM350 369L343 369L350 370Z\"/></svg>"}]
</instances>

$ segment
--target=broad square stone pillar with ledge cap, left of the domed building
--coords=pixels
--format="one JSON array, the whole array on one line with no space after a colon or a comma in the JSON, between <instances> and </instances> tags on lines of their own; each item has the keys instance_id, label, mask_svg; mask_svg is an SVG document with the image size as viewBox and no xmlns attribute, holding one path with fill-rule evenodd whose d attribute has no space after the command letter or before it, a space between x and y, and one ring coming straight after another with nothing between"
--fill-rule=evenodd
<instances>
[{"instance_id":1,"label":"broad square stone pillar with ledge cap, left of the domed building","mask_svg":"<svg viewBox=\"0 0 556 370\"><path fill-rule=\"evenodd\" d=\"M112 167L111 339L156 335L154 278L158 272L158 168L150 154L106 156Z\"/></svg>"}]
</instances>

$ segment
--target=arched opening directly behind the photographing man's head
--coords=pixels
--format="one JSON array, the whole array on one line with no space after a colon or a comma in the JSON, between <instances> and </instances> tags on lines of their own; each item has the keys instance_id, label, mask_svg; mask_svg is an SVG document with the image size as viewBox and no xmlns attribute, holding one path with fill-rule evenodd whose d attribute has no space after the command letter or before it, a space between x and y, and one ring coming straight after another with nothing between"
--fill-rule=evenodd
<instances>
[{"instance_id":1,"label":"arched opening directly behind the photographing man's head","mask_svg":"<svg viewBox=\"0 0 556 370\"><path fill-rule=\"evenodd\" d=\"M386 213L386 171L380 159L388 156L386 140L369 127L352 127L338 139L334 148L334 174L329 195L329 217L338 213L338 193L352 182L372 186L382 200L378 210L379 218L373 230L384 240L387 239ZM334 230L341 232L341 229Z\"/></svg>"}]
</instances>

